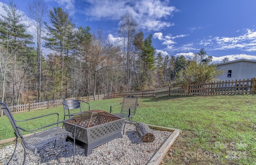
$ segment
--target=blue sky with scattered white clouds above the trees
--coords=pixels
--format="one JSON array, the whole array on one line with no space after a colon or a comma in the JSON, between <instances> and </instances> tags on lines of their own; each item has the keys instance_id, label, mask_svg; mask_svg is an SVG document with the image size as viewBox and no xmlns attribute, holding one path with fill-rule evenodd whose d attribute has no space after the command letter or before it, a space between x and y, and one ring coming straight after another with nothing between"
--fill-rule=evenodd
<instances>
[{"instance_id":1,"label":"blue sky with scattered white clouds above the trees","mask_svg":"<svg viewBox=\"0 0 256 165\"><path fill-rule=\"evenodd\" d=\"M25 12L30 0L13 0ZM8 4L9 0L0 0ZM61 6L77 27L99 27L115 41L118 23L129 11L162 55L190 58L200 48L213 56L256 60L256 0L45 0Z\"/></svg>"}]
</instances>

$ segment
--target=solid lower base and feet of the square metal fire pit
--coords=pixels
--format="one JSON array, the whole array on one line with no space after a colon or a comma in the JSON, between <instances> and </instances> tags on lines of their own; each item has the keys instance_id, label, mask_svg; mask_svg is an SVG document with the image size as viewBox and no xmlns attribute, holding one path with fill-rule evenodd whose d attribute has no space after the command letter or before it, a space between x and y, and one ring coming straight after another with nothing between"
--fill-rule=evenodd
<instances>
[{"instance_id":1,"label":"solid lower base and feet of the square metal fire pit","mask_svg":"<svg viewBox=\"0 0 256 165\"><path fill-rule=\"evenodd\" d=\"M110 135L110 136L108 136L106 138L100 139L100 140L95 141L95 142L90 143L90 144L86 144L86 143L76 139L76 145L84 148L84 155L87 156L87 155L90 155L92 153L92 149L94 149L95 147L98 147L98 146L100 146L100 145L102 145L102 144L104 144L104 143L106 143L106 142L108 142L110 140L115 139L115 138L123 138L122 133L121 132L117 132L116 134L112 134L112 135ZM70 136L67 136L66 141L73 142L74 139L71 138Z\"/></svg>"}]
</instances>

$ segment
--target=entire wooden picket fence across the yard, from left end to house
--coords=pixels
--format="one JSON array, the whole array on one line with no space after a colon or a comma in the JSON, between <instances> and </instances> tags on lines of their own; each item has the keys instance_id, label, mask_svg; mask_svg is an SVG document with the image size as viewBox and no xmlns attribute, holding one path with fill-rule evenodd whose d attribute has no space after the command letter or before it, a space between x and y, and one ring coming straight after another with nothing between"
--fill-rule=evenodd
<instances>
[{"instance_id":1,"label":"entire wooden picket fence across the yard, from left end to house","mask_svg":"<svg viewBox=\"0 0 256 165\"><path fill-rule=\"evenodd\" d=\"M239 81L217 81L204 84L190 84L188 86L166 86L154 90L140 90L132 92L119 92L110 94L109 98L119 98L129 95L136 97L160 97L160 96L174 96L174 95L220 95L220 94L254 94L256 92L255 78ZM108 98L107 94L100 94L95 97L95 100L102 100ZM83 101L94 100L93 96L85 96L78 99ZM63 100L49 100L46 102L36 102L30 104L22 104L18 106L10 106L12 114L29 112L34 110L41 110L62 106Z\"/></svg>"}]
</instances>

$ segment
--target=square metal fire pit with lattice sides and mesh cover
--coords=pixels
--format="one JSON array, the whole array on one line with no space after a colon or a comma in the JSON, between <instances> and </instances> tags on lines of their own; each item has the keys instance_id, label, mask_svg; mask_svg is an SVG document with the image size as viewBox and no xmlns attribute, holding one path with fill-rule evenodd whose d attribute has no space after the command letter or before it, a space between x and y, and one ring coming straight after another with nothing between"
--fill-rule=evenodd
<instances>
[{"instance_id":1,"label":"square metal fire pit with lattice sides and mesh cover","mask_svg":"<svg viewBox=\"0 0 256 165\"><path fill-rule=\"evenodd\" d=\"M76 119L76 145L84 148L84 154L90 155L92 149L115 138L122 138L124 118L103 110L90 110L73 116ZM63 122L64 128L74 136L74 121ZM73 141L67 136L66 141Z\"/></svg>"}]
</instances>

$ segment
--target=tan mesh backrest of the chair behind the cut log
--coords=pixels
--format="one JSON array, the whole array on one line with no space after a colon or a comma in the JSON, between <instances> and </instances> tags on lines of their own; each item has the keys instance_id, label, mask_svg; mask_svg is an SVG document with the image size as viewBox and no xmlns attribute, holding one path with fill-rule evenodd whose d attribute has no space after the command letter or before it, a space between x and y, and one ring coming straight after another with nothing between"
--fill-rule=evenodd
<instances>
[{"instance_id":1,"label":"tan mesh backrest of the chair behind the cut log","mask_svg":"<svg viewBox=\"0 0 256 165\"><path fill-rule=\"evenodd\" d=\"M134 116L136 113L137 106L138 106L138 97L134 97L134 96L124 97L120 113L128 116L129 108L130 108L129 117Z\"/></svg>"}]
</instances>

